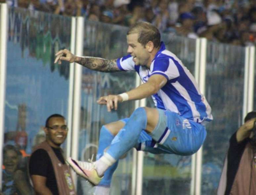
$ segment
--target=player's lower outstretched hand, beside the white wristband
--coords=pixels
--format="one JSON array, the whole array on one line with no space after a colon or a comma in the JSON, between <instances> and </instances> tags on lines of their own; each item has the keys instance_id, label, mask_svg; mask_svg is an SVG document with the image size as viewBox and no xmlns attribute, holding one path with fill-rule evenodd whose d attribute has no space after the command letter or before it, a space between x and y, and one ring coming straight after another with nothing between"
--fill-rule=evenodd
<instances>
[{"instance_id":1,"label":"player's lower outstretched hand, beside the white wristband","mask_svg":"<svg viewBox=\"0 0 256 195\"><path fill-rule=\"evenodd\" d=\"M111 109L117 110L117 104L118 102L122 102L123 99L119 95L108 95L108 96L103 96L100 97L97 100L98 104L106 104L107 105L107 111L110 112Z\"/></svg>"}]
</instances>

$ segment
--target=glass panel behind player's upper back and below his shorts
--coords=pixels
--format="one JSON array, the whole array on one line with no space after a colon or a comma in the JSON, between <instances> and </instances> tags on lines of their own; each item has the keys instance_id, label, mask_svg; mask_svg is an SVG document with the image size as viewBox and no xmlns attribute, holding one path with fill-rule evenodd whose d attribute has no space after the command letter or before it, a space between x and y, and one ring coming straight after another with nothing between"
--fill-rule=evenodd
<instances>
[{"instance_id":1,"label":"glass panel behind player's upper back and below his shorts","mask_svg":"<svg viewBox=\"0 0 256 195\"><path fill-rule=\"evenodd\" d=\"M180 58L194 74L195 39L162 35L166 49ZM147 106L154 107L152 98ZM143 167L143 194L190 194L191 156L175 154L151 154L145 152Z\"/></svg>"}]
</instances>

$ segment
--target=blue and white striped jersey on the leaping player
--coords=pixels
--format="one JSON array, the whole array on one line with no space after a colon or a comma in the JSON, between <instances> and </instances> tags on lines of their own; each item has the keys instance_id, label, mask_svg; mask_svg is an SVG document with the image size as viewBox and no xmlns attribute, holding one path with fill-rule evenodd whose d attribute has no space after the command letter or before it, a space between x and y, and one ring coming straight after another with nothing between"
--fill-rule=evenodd
<instances>
[{"instance_id":1,"label":"blue and white striped jersey on the leaping player","mask_svg":"<svg viewBox=\"0 0 256 195\"><path fill-rule=\"evenodd\" d=\"M150 70L146 66L135 65L132 59L131 55L117 59L118 68L136 71L144 83L154 74L161 74L167 79L165 86L152 95L157 108L168 109L199 123L213 119L211 107L200 93L194 77L176 55L165 49L163 42Z\"/></svg>"}]
</instances>

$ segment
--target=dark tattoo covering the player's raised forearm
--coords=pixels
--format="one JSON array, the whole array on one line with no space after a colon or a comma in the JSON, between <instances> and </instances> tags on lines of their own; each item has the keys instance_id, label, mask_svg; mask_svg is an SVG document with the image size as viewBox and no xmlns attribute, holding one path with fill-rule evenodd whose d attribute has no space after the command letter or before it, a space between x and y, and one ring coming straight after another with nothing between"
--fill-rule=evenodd
<instances>
[{"instance_id":1,"label":"dark tattoo covering the player's raised forearm","mask_svg":"<svg viewBox=\"0 0 256 195\"><path fill-rule=\"evenodd\" d=\"M96 70L100 72L117 72L121 71L117 67L116 59L108 60L102 58L80 58L79 64L91 70Z\"/></svg>"}]
</instances>

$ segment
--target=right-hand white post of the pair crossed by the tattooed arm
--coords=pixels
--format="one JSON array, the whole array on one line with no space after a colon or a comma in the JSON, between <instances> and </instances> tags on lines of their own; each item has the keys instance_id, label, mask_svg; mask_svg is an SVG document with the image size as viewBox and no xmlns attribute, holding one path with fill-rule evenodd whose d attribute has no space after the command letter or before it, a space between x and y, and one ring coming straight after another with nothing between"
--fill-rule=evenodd
<instances>
[{"instance_id":1,"label":"right-hand white post of the pair crossed by the tattooed arm","mask_svg":"<svg viewBox=\"0 0 256 195\"><path fill-rule=\"evenodd\" d=\"M76 46L75 55L83 55L83 38L84 38L84 18L77 17L76 20ZM82 82L82 66L78 63L74 65L74 96L73 96L73 117L72 117L72 146L71 158L78 159L78 137L80 129L80 106L81 106L81 82ZM76 185L77 177L72 174Z\"/></svg>"}]
</instances>

